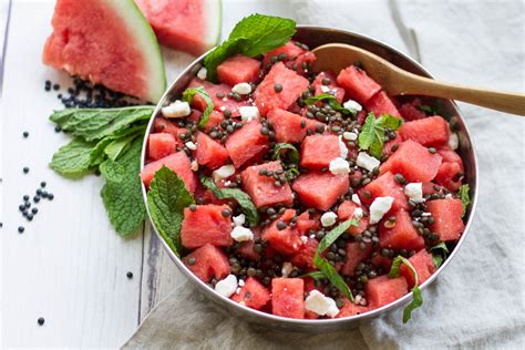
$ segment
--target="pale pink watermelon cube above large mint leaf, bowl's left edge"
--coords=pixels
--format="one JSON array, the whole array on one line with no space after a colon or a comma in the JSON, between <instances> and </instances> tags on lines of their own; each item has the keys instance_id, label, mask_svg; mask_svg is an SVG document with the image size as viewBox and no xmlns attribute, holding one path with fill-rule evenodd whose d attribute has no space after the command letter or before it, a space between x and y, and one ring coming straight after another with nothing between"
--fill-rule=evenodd
<instances>
[{"instance_id":1,"label":"pale pink watermelon cube above large mint leaf, bowl's left edge","mask_svg":"<svg viewBox=\"0 0 525 350\"><path fill-rule=\"evenodd\" d=\"M153 176L155 176L155 173L163 166L171 168L175 174L177 174L186 185L187 191L191 193L195 192L195 188L197 187L197 176L192 171L192 162L189 162L188 156L183 151L146 164L141 172L144 185L150 186Z\"/></svg>"}]
</instances>

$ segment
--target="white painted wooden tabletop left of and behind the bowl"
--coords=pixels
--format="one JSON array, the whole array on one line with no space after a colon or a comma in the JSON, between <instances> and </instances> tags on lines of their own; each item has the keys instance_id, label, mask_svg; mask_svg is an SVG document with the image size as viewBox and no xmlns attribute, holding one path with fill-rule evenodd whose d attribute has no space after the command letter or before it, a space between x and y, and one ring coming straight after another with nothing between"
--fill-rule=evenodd
<instances>
[{"instance_id":1,"label":"white painted wooden tabletop left of and behind the bowl","mask_svg":"<svg viewBox=\"0 0 525 350\"><path fill-rule=\"evenodd\" d=\"M56 93L44 91L44 82L66 86L71 80L41 63L54 1L0 1L0 49L6 45L0 80L0 348L117 347L181 275L148 224L133 238L116 235L99 194L100 177L64 179L48 167L53 152L69 140L48 121L62 106ZM256 11L294 18L285 1L223 3L224 33ZM193 60L164 53L168 82ZM28 223L18 205L23 195L34 195L41 181L55 197L43 200ZM37 322L40 317L43 326Z\"/></svg>"}]
</instances>

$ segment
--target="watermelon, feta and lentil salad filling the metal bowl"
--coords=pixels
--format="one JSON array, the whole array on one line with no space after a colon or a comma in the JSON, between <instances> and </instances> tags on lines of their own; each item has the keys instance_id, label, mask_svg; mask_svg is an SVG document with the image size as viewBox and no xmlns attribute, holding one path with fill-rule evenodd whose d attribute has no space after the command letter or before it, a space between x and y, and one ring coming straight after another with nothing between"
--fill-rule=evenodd
<instances>
[{"instance_id":1,"label":"watermelon, feta and lentil salad filling the metal bowl","mask_svg":"<svg viewBox=\"0 0 525 350\"><path fill-rule=\"evenodd\" d=\"M449 122L425 113L418 99L389 96L358 66L316 74L315 59L288 42L257 59L229 58L217 69L218 82L200 72L187 89L210 95L207 124L197 126L206 109L198 96L182 115L163 112L142 173L148 186L167 166L194 195L179 253L197 278L247 308L297 319L354 316L393 302L415 285L404 265L389 277L393 258L405 257L421 285L437 269L431 248L453 245L464 229L457 194L464 168ZM309 102L321 94L334 102ZM385 114L402 123L383 130L383 152L373 156L360 147L363 124L367 115ZM235 197L217 198L203 176L219 189L244 192L259 220L250 223ZM319 243L350 218L359 224L319 254L353 301L326 275L308 275L319 271Z\"/></svg>"}]
</instances>

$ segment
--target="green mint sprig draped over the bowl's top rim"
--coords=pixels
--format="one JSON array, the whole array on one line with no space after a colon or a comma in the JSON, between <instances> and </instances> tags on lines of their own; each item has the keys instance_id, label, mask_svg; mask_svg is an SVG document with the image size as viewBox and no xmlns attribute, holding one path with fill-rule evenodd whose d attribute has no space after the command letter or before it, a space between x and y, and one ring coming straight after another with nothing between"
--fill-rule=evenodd
<instances>
[{"instance_id":1,"label":"green mint sprig draped over the bowl's top rim","mask_svg":"<svg viewBox=\"0 0 525 350\"><path fill-rule=\"evenodd\" d=\"M217 81L217 66L227 58L236 53L257 56L284 45L295 33L296 22L289 19L258 13L244 18L235 25L228 40L204 59L208 80Z\"/></svg>"}]
</instances>

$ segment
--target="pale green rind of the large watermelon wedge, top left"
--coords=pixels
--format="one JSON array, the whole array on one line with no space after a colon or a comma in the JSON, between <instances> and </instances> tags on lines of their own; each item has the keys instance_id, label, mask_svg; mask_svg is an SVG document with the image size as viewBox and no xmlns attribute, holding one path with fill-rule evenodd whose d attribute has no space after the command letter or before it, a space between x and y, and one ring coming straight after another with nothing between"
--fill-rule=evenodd
<instances>
[{"instance_id":1,"label":"pale green rind of the large watermelon wedge, top left","mask_svg":"<svg viewBox=\"0 0 525 350\"><path fill-rule=\"evenodd\" d=\"M145 97L148 102L158 102L166 90L166 74L161 47L152 27L133 0L110 0L107 3L122 17L137 42L136 48L143 52L147 65L145 81L148 84Z\"/></svg>"}]
</instances>

